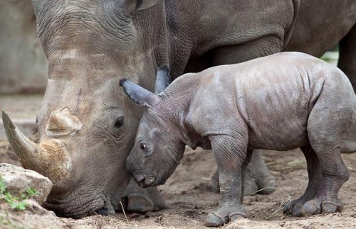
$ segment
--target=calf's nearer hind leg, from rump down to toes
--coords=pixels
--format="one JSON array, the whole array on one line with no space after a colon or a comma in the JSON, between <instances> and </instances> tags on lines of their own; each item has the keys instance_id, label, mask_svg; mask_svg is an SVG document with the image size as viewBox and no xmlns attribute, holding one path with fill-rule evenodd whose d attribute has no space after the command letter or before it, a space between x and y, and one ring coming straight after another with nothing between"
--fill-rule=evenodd
<instances>
[{"instance_id":1,"label":"calf's nearer hind leg, from rump down to toes","mask_svg":"<svg viewBox=\"0 0 356 229\"><path fill-rule=\"evenodd\" d=\"M355 95L350 84L324 84L308 118L308 137L318 156L322 179L315 197L300 208L301 216L342 210L337 194L350 174L342 162L340 146L354 122Z\"/></svg>"}]
</instances>

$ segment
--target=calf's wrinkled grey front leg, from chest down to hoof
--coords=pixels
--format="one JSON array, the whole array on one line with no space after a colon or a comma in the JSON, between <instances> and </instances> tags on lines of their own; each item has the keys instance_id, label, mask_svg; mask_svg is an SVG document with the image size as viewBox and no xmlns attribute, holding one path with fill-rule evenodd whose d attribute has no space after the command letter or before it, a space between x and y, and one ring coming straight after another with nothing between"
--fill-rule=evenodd
<instances>
[{"instance_id":1,"label":"calf's wrinkled grey front leg, from chest down to hoof","mask_svg":"<svg viewBox=\"0 0 356 229\"><path fill-rule=\"evenodd\" d=\"M217 227L247 216L244 199L244 170L251 159L247 140L242 136L214 135L211 147L219 169L221 200L219 206L206 217L206 226Z\"/></svg>"}]
</instances>

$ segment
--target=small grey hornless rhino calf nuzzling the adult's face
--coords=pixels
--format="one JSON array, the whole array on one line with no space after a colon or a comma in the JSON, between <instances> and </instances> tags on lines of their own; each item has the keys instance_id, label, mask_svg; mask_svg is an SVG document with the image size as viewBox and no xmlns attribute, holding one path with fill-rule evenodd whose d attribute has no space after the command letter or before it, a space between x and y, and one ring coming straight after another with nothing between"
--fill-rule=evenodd
<instances>
[{"instance_id":1,"label":"small grey hornless rhino calf nuzzling the adult's face","mask_svg":"<svg viewBox=\"0 0 356 229\"><path fill-rule=\"evenodd\" d=\"M206 225L223 225L246 217L244 170L253 149L300 147L309 183L285 213L342 210L337 193L350 174L340 145L355 122L356 101L340 69L310 55L282 52L184 74L167 89L168 74L158 76L156 94L121 82L133 101L147 107L127 157L127 169L140 186L164 184L182 159L184 145L211 149L221 201Z\"/></svg>"}]
</instances>

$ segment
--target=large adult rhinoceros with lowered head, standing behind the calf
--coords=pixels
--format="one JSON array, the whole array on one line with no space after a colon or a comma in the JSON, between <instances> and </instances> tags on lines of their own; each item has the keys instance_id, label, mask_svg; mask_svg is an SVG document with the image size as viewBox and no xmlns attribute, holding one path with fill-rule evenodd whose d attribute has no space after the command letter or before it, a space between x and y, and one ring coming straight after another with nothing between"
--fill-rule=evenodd
<instances>
[{"instance_id":1,"label":"large adult rhinoceros with lowered head, standing behind the calf","mask_svg":"<svg viewBox=\"0 0 356 229\"><path fill-rule=\"evenodd\" d=\"M341 40L340 67L356 85L355 0L33 0L33 6L49 62L40 143L21 135L6 114L4 123L23 166L53 181L46 206L61 216L119 206L142 114L122 94L123 77L153 89L160 65L178 77L283 50L320 56ZM273 184L259 155L250 172L256 189ZM129 210L163 207L156 189L129 187Z\"/></svg>"}]
</instances>

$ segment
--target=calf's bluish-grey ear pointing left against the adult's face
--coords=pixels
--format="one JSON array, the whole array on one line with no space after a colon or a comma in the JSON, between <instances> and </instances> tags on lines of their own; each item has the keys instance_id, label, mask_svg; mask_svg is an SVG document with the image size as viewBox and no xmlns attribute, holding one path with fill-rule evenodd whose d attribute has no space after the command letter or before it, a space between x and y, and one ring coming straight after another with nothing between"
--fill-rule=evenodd
<instances>
[{"instance_id":1,"label":"calf's bluish-grey ear pointing left against the adult's face","mask_svg":"<svg viewBox=\"0 0 356 229\"><path fill-rule=\"evenodd\" d=\"M142 86L139 86L133 82L130 82L127 79L120 80L120 86L123 87L125 94L132 99L136 104L141 106L152 107L161 101L159 96L153 94L151 91L144 89Z\"/></svg>"}]
</instances>

